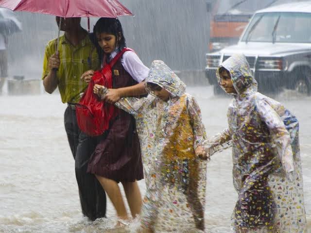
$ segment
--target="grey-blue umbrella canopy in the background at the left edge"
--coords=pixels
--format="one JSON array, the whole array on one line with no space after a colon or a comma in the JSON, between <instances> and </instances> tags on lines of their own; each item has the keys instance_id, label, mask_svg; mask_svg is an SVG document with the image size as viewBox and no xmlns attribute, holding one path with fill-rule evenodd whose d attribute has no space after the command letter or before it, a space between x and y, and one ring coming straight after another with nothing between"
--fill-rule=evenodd
<instances>
[{"instance_id":1,"label":"grey-blue umbrella canopy in the background at the left edge","mask_svg":"<svg viewBox=\"0 0 311 233\"><path fill-rule=\"evenodd\" d=\"M0 33L11 35L21 32L21 22L14 16L12 11L6 8L0 8Z\"/></svg>"}]
</instances>

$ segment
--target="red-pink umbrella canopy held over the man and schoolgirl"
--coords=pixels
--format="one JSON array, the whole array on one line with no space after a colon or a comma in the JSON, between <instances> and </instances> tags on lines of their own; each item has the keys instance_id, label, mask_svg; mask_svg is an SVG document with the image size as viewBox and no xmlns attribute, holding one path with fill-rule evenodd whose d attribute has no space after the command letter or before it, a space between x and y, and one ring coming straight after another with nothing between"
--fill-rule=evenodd
<instances>
[{"instance_id":1,"label":"red-pink umbrella canopy held over the man and schoolgirl","mask_svg":"<svg viewBox=\"0 0 311 233\"><path fill-rule=\"evenodd\" d=\"M118 0L1 0L0 6L59 17L133 16Z\"/></svg>"}]
</instances>

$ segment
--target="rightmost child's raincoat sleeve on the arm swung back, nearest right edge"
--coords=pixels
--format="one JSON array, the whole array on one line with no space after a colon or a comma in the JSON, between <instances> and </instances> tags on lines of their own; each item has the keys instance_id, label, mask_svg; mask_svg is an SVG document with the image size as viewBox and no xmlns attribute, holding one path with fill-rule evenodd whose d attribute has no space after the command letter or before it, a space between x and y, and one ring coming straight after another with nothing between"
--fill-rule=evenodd
<instances>
[{"instance_id":1,"label":"rightmost child's raincoat sleeve on the arm swung back, nearest right edge","mask_svg":"<svg viewBox=\"0 0 311 233\"><path fill-rule=\"evenodd\" d=\"M257 111L270 131L270 134L276 144L276 150L283 169L288 173L294 171L293 150L291 146L291 137L285 128L285 125L276 113L276 111L264 100L257 100Z\"/></svg>"}]
</instances>

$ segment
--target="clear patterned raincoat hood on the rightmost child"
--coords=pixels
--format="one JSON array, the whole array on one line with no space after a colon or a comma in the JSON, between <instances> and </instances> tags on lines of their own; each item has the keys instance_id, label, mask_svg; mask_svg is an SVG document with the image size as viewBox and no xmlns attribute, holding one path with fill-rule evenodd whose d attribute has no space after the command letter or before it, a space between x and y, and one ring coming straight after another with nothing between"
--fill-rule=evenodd
<instances>
[{"instance_id":1,"label":"clear patterned raincoat hood on the rightmost child","mask_svg":"<svg viewBox=\"0 0 311 233\"><path fill-rule=\"evenodd\" d=\"M218 67L216 71L218 83L220 83L219 69L221 67L224 67L230 72L233 86L237 91L238 96L241 94L257 92L257 81L253 77L252 70L243 54L235 54L229 57L220 67Z\"/></svg>"}]
</instances>

